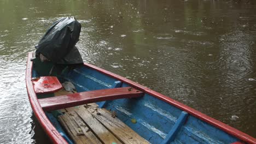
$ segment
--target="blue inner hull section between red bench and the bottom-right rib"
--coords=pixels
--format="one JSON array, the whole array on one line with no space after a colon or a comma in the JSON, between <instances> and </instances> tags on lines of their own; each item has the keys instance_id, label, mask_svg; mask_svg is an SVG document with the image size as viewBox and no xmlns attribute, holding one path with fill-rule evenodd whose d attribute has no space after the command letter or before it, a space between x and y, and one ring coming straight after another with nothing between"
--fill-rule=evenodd
<instances>
[{"instance_id":1,"label":"blue inner hull section between red bench and the bottom-right rib","mask_svg":"<svg viewBox=\"0 0 256 144\"><path fill-rule=\"evenodd\" d=\"M115 111L121 121L150 143L161 143L182 112L148 94L138 99L109 101L104 108ZM132 118L137 122L132 123Z\"/></svg>"}]
</instances>

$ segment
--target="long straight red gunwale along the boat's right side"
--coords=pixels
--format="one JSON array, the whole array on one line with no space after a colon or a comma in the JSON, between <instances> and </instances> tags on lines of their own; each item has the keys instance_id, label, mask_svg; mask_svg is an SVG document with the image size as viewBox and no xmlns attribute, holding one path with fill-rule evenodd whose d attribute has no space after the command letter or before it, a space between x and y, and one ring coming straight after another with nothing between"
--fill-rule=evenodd
<instances>
[{"instance_id":1,"label":"long straight red gunwale along the boat's right side","mask_svg":"<svg viewBox=\"0 0 256 144\"><path fill-rule=\"evenodd\" d=\"M102 74L106 74L106 75L108 75L110 77L113 77L114 79L117 79L119 81L127 83L130 86L135 87L135 88L139 89L140 91L142 91L144 93L148 93L148 94L152 95L153 97L156 97L156 98L158 98L158 99L160 99L162 101L165 101L168 104L176 106L179 109L181 109L181 110L183 110L185 112L188 112L190 115L192 115L194 117L197 117L197 118L201 119L202 121L207 122L207 123L213 125L214 127L217 127L219 129L225 131L226 133L228 133L228 134L230 134L232 136L237 137L238 139L240 139L240 140L242 140L244 142L256 144L256 139L254 137L249 136L249 135L247 135L247 134L243 133L242 131L239 131L239 130L237 130L235 128L232 128L232 127L230 127L227 124L224 124L224 123L222 123L220 121L217 121L216 119L214 119L212 117L209 117L209 116L207 116L207 115L205 115L205 114L203 114L203 113L201 113L201 112L199 112L199 111L197 111L195 109L192 109L191 107L189 107L187 105L179 103L178 101L173 100L170 97L167 97L166 95L163 95L161 93L155 92L155 91L153 91L150 88L147 88L147 87L144 87L142 85L139 85L138 83L133 82L131 80L128 80L125 77L122 77L122 76L119 76L117 74L111 73L111 72L109 72L107 70L98 68L98 67L96 67L94 65L91 65L91 64L88 64L88 63L84 63L84 65L85 65L85 67L97 70L97 71L99 71Z\"/></svg>"}]
</instances>

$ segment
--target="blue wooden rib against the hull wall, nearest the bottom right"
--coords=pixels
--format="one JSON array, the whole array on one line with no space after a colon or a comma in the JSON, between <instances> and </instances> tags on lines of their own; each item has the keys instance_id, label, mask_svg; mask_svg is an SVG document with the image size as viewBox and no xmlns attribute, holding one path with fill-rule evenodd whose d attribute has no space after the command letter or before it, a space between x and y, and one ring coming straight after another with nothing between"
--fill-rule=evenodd
<instances>
[{"instance_id":1,"label":"blue wooden rib against the hull wall, nearest the bottom right","mask_svg":"<svg viewBox=\"0 0 256 144\"><path fill-rule=\"evenodd\" d=\"M175 139L176 134L178 133L179 129L181 129L181 127L183 126L187 117L188 117L188 113L185 111L182 111L181 115L179 115L177 122L173 125L171 131L165 137L164 141L161 142L161 144L168 144Z\"/></svg>"}]
</instances>

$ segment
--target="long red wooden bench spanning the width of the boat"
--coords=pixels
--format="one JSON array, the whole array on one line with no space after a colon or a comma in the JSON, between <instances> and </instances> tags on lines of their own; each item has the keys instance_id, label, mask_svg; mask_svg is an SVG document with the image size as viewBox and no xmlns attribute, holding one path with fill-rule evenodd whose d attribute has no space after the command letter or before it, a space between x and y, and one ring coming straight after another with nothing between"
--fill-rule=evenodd
<instances>
[{"instance_id":1,"label":"long red wooden bench spanning the width of the boat","mask_svg":"<svg viewBox=\"0 0 256 144\"><path fill-rule=\"evenodd\" d=\"M52 111L99 101L136 98L143 96L143 94L143 92L135 88L121 87L61 95L58 97L39 99L38 101L44 111Z\"/></svg>"}]
</instances>

